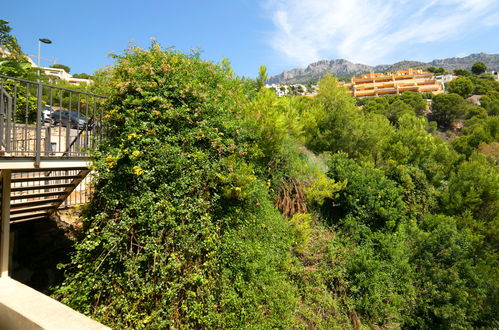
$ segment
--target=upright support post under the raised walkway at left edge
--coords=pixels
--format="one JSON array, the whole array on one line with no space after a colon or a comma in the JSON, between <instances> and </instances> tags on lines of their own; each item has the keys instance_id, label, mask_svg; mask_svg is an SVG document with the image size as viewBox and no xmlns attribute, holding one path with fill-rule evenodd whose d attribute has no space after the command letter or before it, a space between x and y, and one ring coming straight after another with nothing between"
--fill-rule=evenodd
<instances>
[{"instance_id":1,"label":"upright support post under the raised walkway at left edge","mask_svg":"<svg viewBox=\"0 0 499 330\"><path fill-rule=\"evenodd\" d=\"M11 170L2 170L2 231L0 242L0 276L9 276L10 251L10 177Z\"/></svg>"}]
</instances>

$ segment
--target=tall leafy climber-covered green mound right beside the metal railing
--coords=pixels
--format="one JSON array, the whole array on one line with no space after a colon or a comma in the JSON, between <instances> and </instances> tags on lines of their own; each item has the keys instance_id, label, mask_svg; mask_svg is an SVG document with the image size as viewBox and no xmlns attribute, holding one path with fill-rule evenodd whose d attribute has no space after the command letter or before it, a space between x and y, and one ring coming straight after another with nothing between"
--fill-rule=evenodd
<instances>
[{"instance_id":1,"label":"tall leafy climber-covered green mound right beside the metal railing","mask_svg":"<svg viewBox=\"0 0 499 330\"><path fill-rule=\"evenodd\" d=\"M241 83L157 44L116 61L59 297L115 327L289 327L293 234L251 161Z\"/></svg>"}]
</instances>

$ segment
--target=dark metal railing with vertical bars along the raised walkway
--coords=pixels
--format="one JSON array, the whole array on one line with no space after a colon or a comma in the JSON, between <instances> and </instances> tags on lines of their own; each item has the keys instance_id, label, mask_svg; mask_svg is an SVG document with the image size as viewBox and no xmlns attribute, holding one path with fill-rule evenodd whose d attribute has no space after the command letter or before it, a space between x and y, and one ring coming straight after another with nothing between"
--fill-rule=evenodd
<instances>
[{"instance_id":1,"label":"dark metal railing with vertical bars along the raised walkway","mask_svg":"<svg viewBox=\"0 0 499 330\"><path fill-rule=\"evenodd\" d=\"M0 157L87 157L105 97L0 75Z\"/></svg>"}]
</instances>

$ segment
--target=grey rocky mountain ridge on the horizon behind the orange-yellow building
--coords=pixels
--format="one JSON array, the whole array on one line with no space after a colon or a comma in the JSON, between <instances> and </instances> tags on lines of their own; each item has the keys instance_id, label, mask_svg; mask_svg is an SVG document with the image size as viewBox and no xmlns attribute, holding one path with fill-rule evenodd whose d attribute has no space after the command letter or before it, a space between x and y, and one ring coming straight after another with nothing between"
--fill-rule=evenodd
<instances>
[{"instance_id":1,"label":"grey rocky mountain ridge on the horizon behind the orange-yellow building","mask_svg":"<svg viewBox=\"0 0 499 330\"><path fill-rule=\"evenodd\" d=\"M310 80L319 80L324 76L324 74L326 74L326 72L330 72L335 76L350 76L370 71L397 71L414 67L427 68L429 66L443 67L447 71L452 71L458 68L470 69L476 61L484 62L490 70L499 70L499 54L486 53L471 54L466 57L436 59L428 63L418 61L400 61L394 64L380 64L376 66L352 63L345 59L336 59L321 60L309 64L305 69L295 68L292 70L285 70L278 75L270 77L267 80L267 83L306 83Z\"/></svg>"}]
</instances>

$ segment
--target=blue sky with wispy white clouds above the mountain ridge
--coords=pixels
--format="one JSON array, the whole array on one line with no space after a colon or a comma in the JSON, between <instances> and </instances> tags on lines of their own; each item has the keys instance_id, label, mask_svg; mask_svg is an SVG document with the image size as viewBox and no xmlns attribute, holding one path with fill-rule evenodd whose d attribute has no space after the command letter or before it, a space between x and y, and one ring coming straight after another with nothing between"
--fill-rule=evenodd
<instances>
[{"instance_id":1,"label":"blue sky with wispy white clouds above the mountain ridge","mask_svg":"<svg viewBox=\"0 0 499 330\"><path fill-rule=\"evenodd\" d=\"M227 57L249 77L260 64L277 74L320 59L375 65L499 53L499 0L28 0L2 4L0 18L25 53L51 39L42 57L72 73L92 73L112 64L109 53L151 38Z\"/></svg>"}]
</instances>

